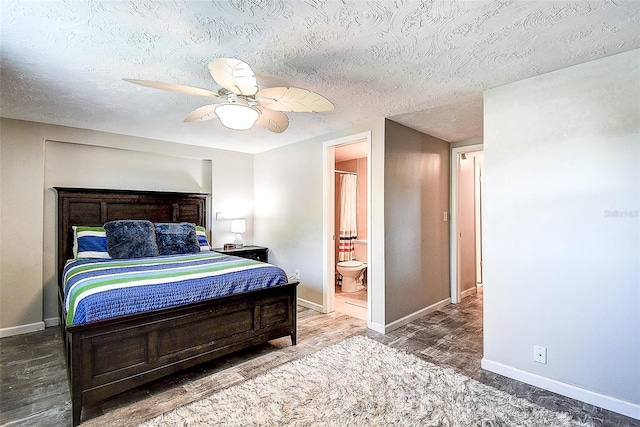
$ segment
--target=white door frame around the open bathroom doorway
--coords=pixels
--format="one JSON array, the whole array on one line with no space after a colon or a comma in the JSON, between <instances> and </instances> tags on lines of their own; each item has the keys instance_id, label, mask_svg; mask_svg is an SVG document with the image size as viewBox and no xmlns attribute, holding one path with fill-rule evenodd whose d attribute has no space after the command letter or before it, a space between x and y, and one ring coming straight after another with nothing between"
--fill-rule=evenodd
<instances>
[{"instance_id":1,"label":"white door frame around the open bathroom doorway","mask_svg":"<svg viewBox=\"0 0 640 427\"><path fill-rule=\"evenodd\" d=\"M361 132L343 138L334 139L324 143L322 163L324 176L322 180L323 203L323 256L324 265L323 285L322 285L322 312L331 313L335 307L335 170L336 158L335 148L339 145L348 145L356 142L366 141L367 162L371 158L371 131ZM371 165L367 165L367 238L371 236ZM371 260L371 244L367 245L367 259ZM369 270L371 271L371 270ZM367 275L367 287L372 289L375 279L371 274ZM367 292L367 324L371 324L371 294Z\"/></svg>"}]
</instances>

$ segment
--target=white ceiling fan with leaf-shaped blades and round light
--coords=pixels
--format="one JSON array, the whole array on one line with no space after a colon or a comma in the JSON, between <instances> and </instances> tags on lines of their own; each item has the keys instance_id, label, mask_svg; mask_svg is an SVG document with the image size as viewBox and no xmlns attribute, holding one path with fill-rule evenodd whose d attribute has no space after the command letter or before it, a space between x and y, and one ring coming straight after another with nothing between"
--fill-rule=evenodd
<instances>
[{"instance_id":1,"label":"white ceiling fan with leaf-shaped blades and round light","mask_svg":"<svg viewBox=\"0 0 640 427\"><path fill-rule=\"evenodd\" d=\"M289 126L289 118L283 111L312 113L334 108L327 98L307 89L271 87L258 90L253 70L238 59L214 59L209 62L209 72L222 86L217 92L150 80L123 80L156 89L214 98L213 104L195 109L184 121L197 122L218 117L223 126L234 130L247 130L257 124L271 132L281 133Z\"/></svg>"}]
</instances>

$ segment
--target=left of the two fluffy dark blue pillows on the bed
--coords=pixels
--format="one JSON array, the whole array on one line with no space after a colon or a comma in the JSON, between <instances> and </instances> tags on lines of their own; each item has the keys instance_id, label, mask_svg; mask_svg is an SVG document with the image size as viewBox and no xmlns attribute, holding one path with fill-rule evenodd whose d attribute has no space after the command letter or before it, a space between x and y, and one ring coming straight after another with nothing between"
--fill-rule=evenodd
<instances>
[{"instance_id":1,"label":"left of the two fluffy dark blue pillows on the bed","mask_svg":"<svg viewBox=\"0 0 640 427\"><path fill-rule=\"evenodd\" d=\"M104 225L111 258L158 256L156 229L151 221L118 220Z\"/></svg>"}]
</instances>

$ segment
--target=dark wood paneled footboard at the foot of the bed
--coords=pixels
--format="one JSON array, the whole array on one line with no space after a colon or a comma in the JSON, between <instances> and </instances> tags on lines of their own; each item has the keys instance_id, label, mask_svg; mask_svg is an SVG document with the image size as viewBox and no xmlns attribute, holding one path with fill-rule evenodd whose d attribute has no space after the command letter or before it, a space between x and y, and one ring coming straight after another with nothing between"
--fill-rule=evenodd
<instances>
[{"instance_id":1,"label":"dark wood paneled footboard at the foot of the bed","mask_svg":"<svg viewBox=\"0 0 640 427\"><path fill-rule=\"evenodd\" d=\"M297 285L68 326L73 425L85 404L275 338L295 345Z\"/></svg>"}]
</instances>

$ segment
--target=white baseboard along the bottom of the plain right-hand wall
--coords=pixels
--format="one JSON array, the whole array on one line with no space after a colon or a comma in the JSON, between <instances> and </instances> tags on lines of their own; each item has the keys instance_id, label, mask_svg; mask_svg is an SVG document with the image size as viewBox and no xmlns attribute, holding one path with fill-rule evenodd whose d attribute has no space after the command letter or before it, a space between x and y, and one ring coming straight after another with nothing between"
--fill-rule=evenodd
<instances>
[{"instance_id":1,"label":"white baseboard along the bottom of the plain right-hand wall","mask_svg":"<svg viewBox=\"0 0 640 427\"><path fill-rule=\"evenodd\" d=\"M599 406L600 408L617 412L618 414L626 415L627 417L640 419L640 405L636 403L599 394L551 378L546 378L511 366L503 365L502 363L487 360L485 358L482 358L480 366L482 366L482 369L486 369L487 371L495 372L496 374L504 375L505 377L513 378L514 380L522 381L544 390L549 390L590 405Z\"/></svg>"}]
</instances>

